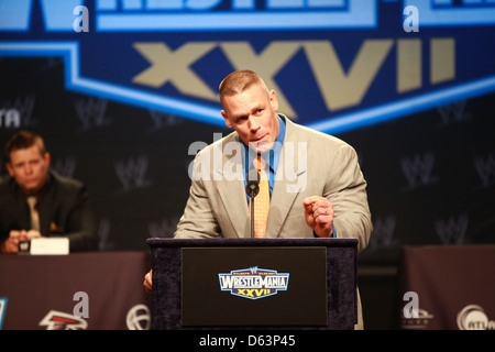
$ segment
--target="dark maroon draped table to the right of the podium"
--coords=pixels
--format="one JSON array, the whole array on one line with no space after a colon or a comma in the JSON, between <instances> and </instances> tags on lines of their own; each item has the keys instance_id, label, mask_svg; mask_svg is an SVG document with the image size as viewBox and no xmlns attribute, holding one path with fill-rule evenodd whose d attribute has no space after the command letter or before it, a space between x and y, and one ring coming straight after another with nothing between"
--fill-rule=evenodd
<instances>
[{"instance_id":1,"label":"dark maroon draped table to the right of the podium","mask_svg":"<svg viewBox=\"0 0 495 352\"><path fill-rule=\"evenodd\" d=\"M403 329L495 329L495 245L405 246L398 299Z\"/></svg>"}]
</instances>

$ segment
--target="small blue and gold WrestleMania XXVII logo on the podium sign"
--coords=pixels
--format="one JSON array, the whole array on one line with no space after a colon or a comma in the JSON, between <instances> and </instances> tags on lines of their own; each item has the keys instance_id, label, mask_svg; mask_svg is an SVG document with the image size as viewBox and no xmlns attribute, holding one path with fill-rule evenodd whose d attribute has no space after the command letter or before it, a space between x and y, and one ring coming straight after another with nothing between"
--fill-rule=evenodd
<instances>
[{"instance_id":1,"label":"small blue and gold WrestleMania XXVII logo on the podium sign","mask_svg":"<svg viewBox=\"0 0 495 352\"><path fill-rule=\"evenodd\" d=\"M287 290L289 274L253 266L245 270L218 274L220 289L234 296L258 299Z\"/></svg>"}]
</instances>

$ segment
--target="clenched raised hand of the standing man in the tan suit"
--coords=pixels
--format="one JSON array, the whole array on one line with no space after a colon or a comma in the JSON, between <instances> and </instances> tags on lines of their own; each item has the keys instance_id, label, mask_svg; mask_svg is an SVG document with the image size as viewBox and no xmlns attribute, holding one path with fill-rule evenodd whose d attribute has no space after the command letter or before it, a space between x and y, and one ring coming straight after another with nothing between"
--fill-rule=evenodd
<instances>
[{"instance_id":1,"label":"clenched raised hand of the standing man in the tan suit","mask_svg":"<svg viewBox=\"0 0 495 352\"><path fill-rule=\"evenodd\" d=\"M305 207L305 219L308 227L319 238L331 238L333 235L333 206L327 198L312 196L302 200Z\"/></svg>"}]
</instances>

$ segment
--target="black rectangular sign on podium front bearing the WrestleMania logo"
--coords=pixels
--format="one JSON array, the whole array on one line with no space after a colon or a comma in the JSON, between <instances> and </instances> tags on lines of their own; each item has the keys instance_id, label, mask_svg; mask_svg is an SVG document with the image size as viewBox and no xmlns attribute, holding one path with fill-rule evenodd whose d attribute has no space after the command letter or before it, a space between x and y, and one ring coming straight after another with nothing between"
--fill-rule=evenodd
<instances>
[{"instance_id":1,"label":"black rectangular sign on podium front bearing the WrestleMania logo","mask_svg":"<svg viewBox=\"0 0 495 352\"><path fill-rule=\"evenodd\" d=\"M326 326L326 248L185 248L184 326Z\"/></svg>"}]
</instances>

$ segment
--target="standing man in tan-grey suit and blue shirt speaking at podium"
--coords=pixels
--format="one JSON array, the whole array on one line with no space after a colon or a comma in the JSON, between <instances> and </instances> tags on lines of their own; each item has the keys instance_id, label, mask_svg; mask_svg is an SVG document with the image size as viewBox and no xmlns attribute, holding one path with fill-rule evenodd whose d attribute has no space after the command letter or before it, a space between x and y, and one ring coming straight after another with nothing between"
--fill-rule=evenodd
<instances>
[{"instance_id":1,"label":"standing man in tan-grey suit and blue shirt speaking at podium","mask_svg":"<svg viewBox=\"0 0 495 352\"><path fill-rule=\"evenodd\" d=\"M278 114L276 92L253 72L230 74L219 92L235 132L198 153L175 238L249 238L246 176L261 154L271 190L267 238L358 238L364 250L372 223L355 151ZM151 290L151 273L144 286ZM362 329L360 301L358 308Z\"/></svg>"}]
</instances>

